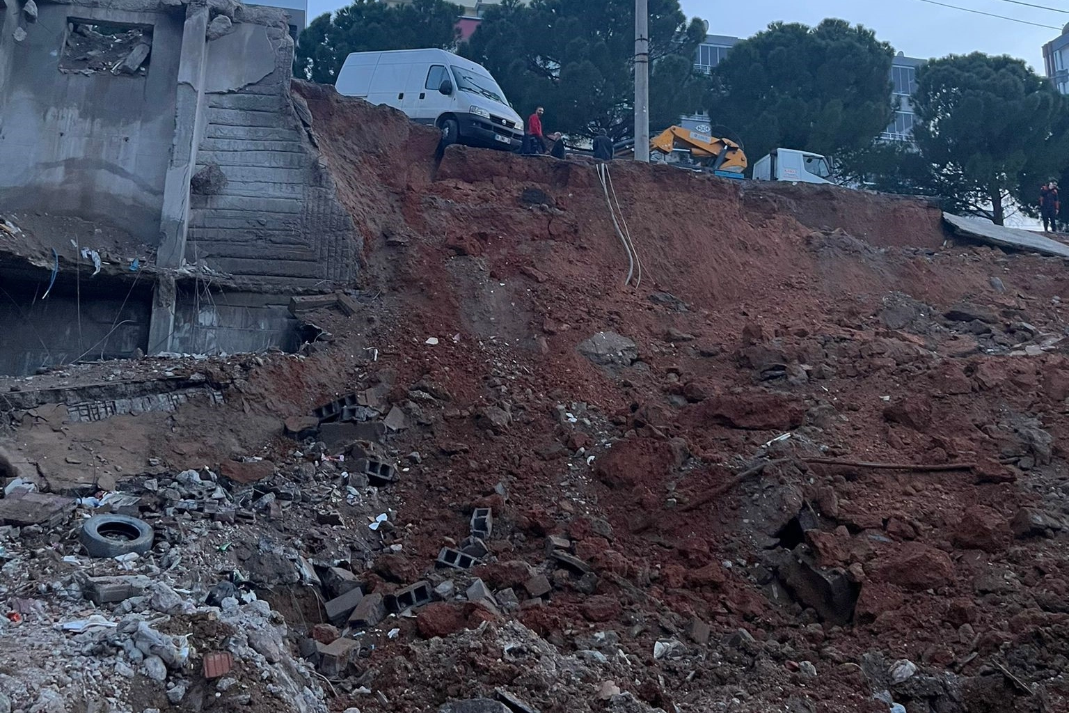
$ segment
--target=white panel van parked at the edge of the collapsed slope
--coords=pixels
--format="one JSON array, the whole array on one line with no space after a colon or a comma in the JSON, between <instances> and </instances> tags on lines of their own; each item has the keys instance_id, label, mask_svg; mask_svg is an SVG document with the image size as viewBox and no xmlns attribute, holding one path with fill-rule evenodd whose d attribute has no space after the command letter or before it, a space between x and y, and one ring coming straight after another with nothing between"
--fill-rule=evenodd
<instances>
[{"instance_id":1,"label":"white panel van parked at the edge of the collapsed slope","mask_svg":"<svg viewBox=\"0 0 1069 713\"><path fill-rule=\"evenodd\" d=\"M523 142L524 122L490 73L444 49L353 52L335 88L437 126L447 144L516 150Z\"/></svg>"}]
</instances>

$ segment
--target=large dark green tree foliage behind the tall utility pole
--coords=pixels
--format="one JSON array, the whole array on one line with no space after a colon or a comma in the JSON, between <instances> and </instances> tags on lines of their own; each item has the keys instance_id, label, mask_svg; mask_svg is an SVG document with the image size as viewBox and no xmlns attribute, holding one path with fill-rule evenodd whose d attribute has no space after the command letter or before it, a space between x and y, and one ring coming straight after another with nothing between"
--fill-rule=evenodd
<instances>
[{"instance_id":1,"label":"large dark green tree foliage behind the tall utility pole","mask_svg":"<svg viewBox=\"0 0 1069 713\"><path fill-rule=\"evenodd\" d=\"M651 126L677 123L701 104L694 55L704 37L679 0L649 0ZM546 130L619 140L634 128L634 0L505 0L486 10L461 53L498 80L526 117L545 107Z\"/></svg>"}]
</instances>

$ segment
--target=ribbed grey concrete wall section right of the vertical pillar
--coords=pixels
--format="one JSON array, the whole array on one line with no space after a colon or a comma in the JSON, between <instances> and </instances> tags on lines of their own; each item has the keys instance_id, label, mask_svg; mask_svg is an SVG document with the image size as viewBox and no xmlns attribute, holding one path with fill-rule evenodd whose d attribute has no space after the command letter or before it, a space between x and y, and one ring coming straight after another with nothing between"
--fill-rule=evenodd
<instances>
[{"instance_id":1,"label":"ribbed grey concrete wall section right of the vertical pillar","mask_svg":"<svg viewBox=\"0 0 1069 713\"><path fill-rule=\"evenodd\" d=\"M350 282L359 236L294 109L284 26L239 25L208 58L186 261L268 285Z\"/></svg>"}]
</instances>

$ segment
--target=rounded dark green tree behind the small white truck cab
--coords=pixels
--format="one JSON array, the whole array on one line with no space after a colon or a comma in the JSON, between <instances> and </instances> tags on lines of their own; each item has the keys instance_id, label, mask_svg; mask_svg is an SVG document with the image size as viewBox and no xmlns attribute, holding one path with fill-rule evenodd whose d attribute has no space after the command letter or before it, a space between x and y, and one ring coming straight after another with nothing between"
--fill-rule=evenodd
<instances>
[{"instance_id":1,"label":"rounded dark green tree behind the small white truck cab","mask_svg":"<svg viewBox=\"0 0 1069 713\"><path fill-rule=\"evenodd\" d=\"M774 22L717 65L709 113L734 128L754 158L777 146L824 155L859 151L894 115L894 56L871 30L845 20L815 28Z\"/></svg>"}]
</instances>

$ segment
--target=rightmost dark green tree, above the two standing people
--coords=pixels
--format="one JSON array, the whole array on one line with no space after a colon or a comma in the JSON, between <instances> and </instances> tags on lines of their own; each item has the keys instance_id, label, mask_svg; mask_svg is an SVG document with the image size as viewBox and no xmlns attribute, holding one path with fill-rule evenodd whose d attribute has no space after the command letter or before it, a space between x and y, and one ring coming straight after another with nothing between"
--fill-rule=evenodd
<instances>
[{"instance_id":1,"label":"rightmost dark green tree, above the two standing people","mask_svg":"<svg viewBox=\"0 0 1069 713\"><path fill-rule=\"evenodd\" d=\"M917 74L914 138L929 192L946 210L1003 224L1014 201L1069 167L1066 98L1022 60L980 52L933 60Z\"/></svg>"}]
</instances>

